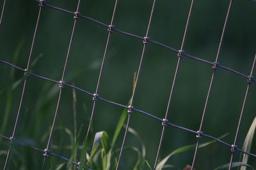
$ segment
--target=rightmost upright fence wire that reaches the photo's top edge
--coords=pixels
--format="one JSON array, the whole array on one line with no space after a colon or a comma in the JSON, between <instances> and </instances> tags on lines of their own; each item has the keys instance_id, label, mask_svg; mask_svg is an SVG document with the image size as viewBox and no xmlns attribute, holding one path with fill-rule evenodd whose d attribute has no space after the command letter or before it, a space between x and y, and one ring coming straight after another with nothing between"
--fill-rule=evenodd
<instances>
[{"instance_id":1,"label":"rightmost upright fence wire that reaches the photo's top edge","mask_svg":"<svg viewBox=\"0 0 256 170\"><path fill-rule=\"evenodd\" d=\"M207 92L207 97L206 97L206 100L205 100L204 111L203 111L203 114L202 114L199 131L197 131L198 134L196 135L196 138L197 138L196 139L196 148L195 148L195 153L194 153L191 169L193 169L195 167L196 156L197 156L197 153L198 153L198 146L199 146L199 142L200 142L199 138L201 137L200 133L202 133L202 127L203 127L203 124L204 124L205 113L207 111L208 104L209 104L209 97L211 95L212 84L213 84L214 77L215 77L215 71L218 67L218 58L219 58L219 55L220 55L220 50L221 50L221 46L222 46L222 43L223 43L223 38L224 38L224 35L225 35L226 26L227 26L227 22L228 22L232 2L233 2L233 0L230 0L230 3L228 5L227 15L226 15L225 22L224 22L224 25L223 25L223 29L222 29L222 32L221 32L221 38L220 38L220 43L219 43L219 46L218 46L218 51L217 51L217 54L216 54L216 59L215 59L215 62L214 62L214 66L212 67L213 72L212 72L211 82L210 82L209 89L208 89L208 92Z\"/></svg>"}]
</instances>

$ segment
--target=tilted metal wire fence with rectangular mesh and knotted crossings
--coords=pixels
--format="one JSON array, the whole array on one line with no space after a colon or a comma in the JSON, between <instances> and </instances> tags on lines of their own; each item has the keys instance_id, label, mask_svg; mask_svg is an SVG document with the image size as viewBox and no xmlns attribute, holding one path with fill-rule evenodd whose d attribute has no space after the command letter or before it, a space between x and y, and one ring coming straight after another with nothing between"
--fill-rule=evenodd
<instances>
[{"instance_id":1,"label":"tilted metal wire fence with rectangular mesh and knotted crossings","mask_svg":"<svg viewBox=\"0 0 256 170\"><path fill-rule=\"evenodd\" d=\"M15 124L13 125L12 136L9 138L9 137L6 137L3 134L1 134L1 137L3 139L6 139L6 140L10 141L10 147L9 147L9 150L8 150L8 153L7 153L7 156L6 156L6 160L5 160L5 164L4 164L3 169L7 169L7 167L8 167L11 148L12 148L12 145L14 143L16 145L27 146L29 148L32 148L35 151L44 153L44 161L45 161L45 159L47 159L48 156L59 157L60 159L70 161L69 159L67 159L67 158L65 158L61 155L57 155L57 154L54 154L54 153L50 152L51 139L52 139L52 136L54 135L54 128L56 127L56 119L58 118L58 111L59 111L59 108L60 108L59 106L60 106L61 97L62 97L62 94L63 94L63 91L62 91L63 87L69 87L71 89L76 89L76 90L79 90L80 92L83 92L86 95L89 95L89 96L93 97L93 108L92 108L92 113L91 113L91 117L90 117L90 124L88 125L88 129L87 129L87 133L86 133L86 138L88 138L88 134L90 132L90 128L91 128L92 122L93 122L93 117L95 115L95 108L97 107L97 103L99 101L104 101L106 103L113 104L115 106L119 106L119 107L127 109L129 114L128 114L128 117L127 117L127 124L126 124L126 128L125 128L125 133L124 133L124 136L123 136L122 146L121 146L121 150L120 150L120 153L119 153L116 169L119 169L119 164L120 164L121 161L123 161L122 160L122 152L124 150L125 141L127 139L127 131L129 129L129 125L130 125L130 122L131 122L132 112L134 112L134 111L138 112L140 114L143 114L147 117L154 118L155 120L162 123L163 129L162 129L162 132L161 132L161 138L159 138L159 145L158 145L158 150L157 150L157 155L156 155L156 161L155 161L155 164L154 164L154 169L156 169L159 153L161 153L161 146L162 146L162 143L163 143L164 132L165 132L165 129L168 128L168 127L175 127L175 128L181 129L183 131L188 131L188 132L191 132L193 134L196 134L197 142L196 142L196 146L195 146L195 153L194 153L191 169L193 169L195 167L196 157L198 155L198 146L200 144L200 138L201 137L214 139L215 141L218 141L219 143L221 143L225 146L228 146L230 148L230 150L231 150L231 152L230 152L230 166L229 166L228 169L231 169L234 153L236 151L241 152L241 153L245 153L245 154L250 155L252 157L256 157L255 154L245 152L244 150L242 150L241 148L238 148L236 146L237 138L239 138L239 130L241 129L241 121L242 121L242 118L243 118L244 107L246 106L246 100L248 99L248 94L250 92L250 87L251 87L250 85L252 83L256 82L256 79L253 78L253 71L255 69L256 55L254 56L254 60L253 60L253 63L252 63L252 69L250 71L249 76L246 76L246 74L243 74L243 73L240 73L239 71L231 69L230 67L223 66L218 62L219 55L220 55L220 52L221 52L221 46L222 46L223 38L225 36L225 29L226 29L226 26L227 26L228 18L230 16L230 8L232 8L232 3L233 3L232 0L230 0L230 3L227 7L227 15L225 17L225 22L224 22L223 29L222 29L220 43L218 45L218 52L216 53L216 59L215 59L214 62L210 62L208 60L200 59L198 57L195 57L193 55L189 55L188 53L184 52L184 45L186 43L186 35L187 35L188 29L189 29L189 21L190 21L190 18L191 18L191 13L193 13L193 4L194 4L193 0L191 1L191 6L189 8L186 27L184 29L185 31L184 31L184 35L183 35L183 38L182 38L182 44L181 44L179 50L177 50L177 49L175 49L171 46L164 45L163 43L154 41L154 40L149 38L150 28L152 27L151 23L152 23L152 18L153 18L153 15L154 15L154 9L156 8L156 0L154 0L154 2L152 3L152 10L150 12L150 19L148 21L147 31L145 32L145 37L141 37L141 36L138 36L138 35L135 35L135 34L131 34L129 32L124 32L124 31L121 31L121 30L119 30L115 27L114 23L115 23L116 8L118 8L118 0L115 1L115 7L114 7L114 10L113 10L113 15L112 15L111 22L110 22L109 25L104 24L104 23L100 22L99 20L95 20L93 18L86 17L86 16L82 15L79 12L79 8L81 6L81 0L78 1L77 8L76 8L75 12L68 11L68 10L65 10L65 9L62 9L62 8L58 8L57 6L52 6L51 4L47 3L45 0L36 0L36 1L39 4L38 17L37 17L37 20L36 20L35 31L34 31L34 34L33 34L33 41L31 43L31 48L30 48L26 68L21 68L21 67L18 67L18 66L15 66L15 65L11 64L10 62L0 60L1 64L6 64L10 67L14 67L17 70L24 72L24 76L25 76L24 83L23 83L23 86L22 86L22 95L20 97L19 108L18 108L18 111L17 111L17 117L16 117L16 120L15 120ZM254 1L254 0L250 0L250 1L252 1L252 3L256 3L256 1ZM1 12L1 19L0 19L0 28L1 28L1 24L3 22L3 18L5 17L4 16L5 4L6 4L6 0L3 1L3 9L2 9L2 12ZM66 55L66 58L65 58L65 64L63 66L63 71L62 71L62 76L61 76L60 81L52 80L50 78L46 78L44 76L40 76L39 74L35 74L35 73L32 73L31 71L29 71L29 67L31 65L31 56L33 55L34 45L35 45L35 42L36 42L36 35L37 35L37 32L38 32L38 27L40 27L40 17L42 15L42 10L44 8L51 8L52 10L58 10L58 11L61 11L63 13L68 13L70 15L74 15L73 29L72 29L72 33L71 33L71 36L70 36L70 41L68 43L67 55ZM99 77L98 77L98 81L97 81L97 87L96 87L95 92L93 92L93 93L88 92L88 91L86 91L84 89L81 89L79 87L76 87L75 85L70 85L68 83L65 83L65 74L66 74L66 70L67 70L68 58L70 57L70 51L72 50L72 42L74 41L74 34L76 33L76 25L77 25L77 22L79 22L78 19L90 20L90 21L95 22L96 24L102 25L103 27L106 27L108 29L108 39L107 39L107 42L106 42L104 55L102 57L102 64L101 64L101 67L100 67L100 73L99 73ZM129 106L126 106L126 105L120 104L120 103L115 103L113 101L109 101L108 99L105 99L104 97L100 97L99 94L98 94L99 89L100 89L100 81L102 80L102 72L104 71L104 65L106 63L105 60L106 60L106 56L108 54L109 41L111 39L111 35L113 34L113 32L118 32L120 34L124 34L126 36L131 36L133 38L140 39L140 40L143 41L143 49L142 49L142 53L141 53L140 64L139 64L138 71L137 71L138 74L136 76L134 90L132 91L131 103L130 103ZM152 115L151 113L147 113L143 110L138 110L138 109L133 107L134 96L136 96L136 91L137 91L137 84L139 83L139 80L140 80L140 73L141 73L141 66L143 64L143 57L144 57L144 54L147 50L147 44L148 43L154 43L156 45L167 48L168 50L172 50L173 52L177 53L177 56L178 56L176 69L175 69L175 74L174 74L173 81L172 81L173 83L172 83L171 90L170 90L170 97L169 97L169 100L168 100L168 105L167 105L167 108L166 108L166 114L165 114L164 118L156 117L155 115ZM169 120L168 120L169 109L172 105L173 91L175 89L175 83L176 83L177 77L179 76L179 67L182 64L181 61L183 60L184 57L188 57L188 58L193 59L193 60L198 60L200 62L204 62L205 64L208 64L209 66L212 66L211 82L210 82L209 89L208 89L208 92L207 92L207 97L206 97L205 104L204 104L204 111L202 113L202 118L200 120L200 128L198 129L198 131L194 131L194 130L188 129L186 127L181 127L179 125L172 124L172 122L169 122ZM216 73L217 69L223 69L223 70L226 70L226 71L230 71L234 74L237 74L238 76L243 77L244 80L247 80L247 83L248 83L247 89L246 89L246 94L244 95L243 106L242 106L241 112L240 112L239 122L237 123L236 136L234 136L234 142L232 144L226 143L225 141L223 141L221 139L218 139L214 136L210 136L210 135L205 134L204 132L202 132L203 125L204 125L204 118L205 118L205 114L207 113L209 98L211 97L211 90L212 90L212 86L214 85L214 77L215 77L215 73ZM39 148L29 146L29 145L25 145L24 143L19 143L18 141L17 142L15 141L15 132L17 131L17 124L20 121L20 110L21 110L22 105L23 105L24 95L26 94L27 80L31 76L33 76L35 78L39 78L40 80L51 81L52 83L58 84L59 87L60 87L58 101L56 102L56 110L54 111L54 118L52 120L51 132L49 134L49 138L48 138L45 149L39 149ZM71 163L76 165L77 167L79 167L79 162L71 161ZM42 168L44 168L44 163L43 163Z\"/></svg>"}]
</instances>

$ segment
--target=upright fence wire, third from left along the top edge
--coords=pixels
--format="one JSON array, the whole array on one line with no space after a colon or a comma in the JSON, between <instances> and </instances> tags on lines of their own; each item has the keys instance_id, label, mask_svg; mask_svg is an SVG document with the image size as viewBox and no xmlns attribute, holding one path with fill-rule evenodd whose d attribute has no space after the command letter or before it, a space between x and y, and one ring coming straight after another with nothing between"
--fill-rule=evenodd
<instances>
[{"instance_id":1,"label":"upright fence wire, third from left along the top edge","mask_svg":"<svg viewBox=\"0 0 256 170\"><path fill-rule=\"evenodd\" d=\"M65 74L66 74L66 71L67 71L67 62L68 62L68 59L69 59L70 50L71 50L72 42L73 42L73 39L74 39L74 32L76 31L76 24L77 24L77 18L79 17L79 6L80 6L80 4L81 4L81 0L78 1L76 12L74 13L75 17L74 17L73 29L72 29L72 33L71 33L71 36L70 36L67 56L66 56L66 59L65 59L65 64L64 64L64 68L63 68L63 72L62 72L62 76L61 76L61 81L60 81L60 93L59 93L59 96L58 96L58 102L57 102L56 110L54 112L54 118L53 118L53 122L52 122L51 132L50 132L50 135L49 135L47 146L44 150L45 151L45 153L44 153L45 157L44 157L44 161L43 161L43 164L42 164L42 169L44 169L45 159L49 154L49 146L51 144L52 134L53 134L54 127L55 127L55 124L56 124L56 118L57 118L57 115L58 115L58 110L60 108L59 106L60 106L61 94L62 94L62 89L63 89L63 81L64 81Z\"/></svg>"}]
</instances>

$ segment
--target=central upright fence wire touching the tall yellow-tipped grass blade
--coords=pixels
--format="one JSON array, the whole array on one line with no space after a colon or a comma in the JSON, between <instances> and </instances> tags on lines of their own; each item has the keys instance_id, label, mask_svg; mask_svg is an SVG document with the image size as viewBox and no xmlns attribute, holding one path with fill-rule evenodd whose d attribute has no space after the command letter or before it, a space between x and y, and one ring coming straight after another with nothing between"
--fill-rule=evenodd
<instances>
[{"instance_id":1,"label":"central upright fence wire touching the tall yellow-tipped grass blade","mask_svg":"<svg viewBox=\"0 0 256 170\"><path fill-rule=\"evenodd\" d=\"M126 136L127 136L127 131L129 129L129 124L131 122L132 104L133 104L134 95L135 95L135 92L136 92L136 89L137 89L138 80L140 78L141 66L142 66L143 57L144 57L144 53L145 53L145 49L146 49L146 45L147 45L147 41L148 41L148 33L150 31L150 25L151 25L151 22L152 22L152 17L153 17L153 14L154 14L155 6L156 6L156 0L154 0L154 2L152 4L152 10L151 10L150 18L149 18L149 21L148 21L147 32L146 32L146 36L145 36L144 41L143 41L144 44L143 44L143 50L142 50L142 53L141 53L140 64L139 64L139 67L138 67L138 74L136 76L136 81L135 81L134 89L132 91L131 102L130 102L130 106L129 106L129 109L128 109L128 113L129 114L128 114L128 118L127 118L127 125L125 127L124 138L123 138L121 150L120 150L120 153L119 153L119 156L118 156L118 161L117 161L117 164L116 164L116 170L119 168L120 159L122 157L122 152L124 150L124 145L125 145L125 139L126 139Z\"/></svg>"}]
</instances>

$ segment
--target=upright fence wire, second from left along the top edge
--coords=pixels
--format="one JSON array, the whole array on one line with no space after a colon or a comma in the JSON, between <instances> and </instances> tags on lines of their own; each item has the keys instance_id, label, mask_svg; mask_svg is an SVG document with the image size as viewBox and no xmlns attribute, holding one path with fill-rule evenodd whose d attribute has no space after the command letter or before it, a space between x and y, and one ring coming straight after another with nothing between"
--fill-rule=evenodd
<instances>
[{"instance_id":1,"label":"upright fence wire, second from left along the top edge","mask_svg":"<svg viewBox=\"0 0 256 170\"><path fill-rule=\"evenodd\" d=\"M4 4L5 4L5 1L4 1ZM17 129L17 124L19 122L19 118L20 118L20 110L22 108L22 103L24 101L24 95L25 95L25 91L26 91L26 83L27 83L27 78L28 78L28 74L29 74L28 69L29 69L31 56L32 56L32 53L33 53L34 45L35 45L36 33L37 33L37 30L38 30L38 25L39 25L39 21L40 21L40 17L41 17L41 10L42 10L42 2L39 4L38 17L37 17L37 20L36 20L35 31L34 31L34 34L33 34L33 39L32 39L31 48L30 48L30 52L29 52L28 64L27 64L27 67L26 67L25 73L24 73L26 78L24 80L23 87L22 87L22 94L21 94L21 97L20 97L19 109L18 109L18 112L17 112L15 124L14 124L14 127L13 127L12 136L10 137L10 141L11 141L10 147L8 149L8 152L7 152L7 155L6 155L6 160L4 162L4 168L3 168L4 170L6 169L6 167L8 165L8 160L9 160L10 152L11 152L11 148L12 148L12 141L13 141L13 139L15 139L15 132L16 132L16 129ZM2 14L1 14L1 20L2 20L2 17L3 17L3 10L2 10ZM1 22L0 22L0 24L1 24Z\"/></svg>"}]
</instances>

